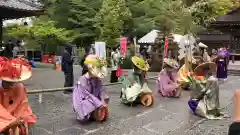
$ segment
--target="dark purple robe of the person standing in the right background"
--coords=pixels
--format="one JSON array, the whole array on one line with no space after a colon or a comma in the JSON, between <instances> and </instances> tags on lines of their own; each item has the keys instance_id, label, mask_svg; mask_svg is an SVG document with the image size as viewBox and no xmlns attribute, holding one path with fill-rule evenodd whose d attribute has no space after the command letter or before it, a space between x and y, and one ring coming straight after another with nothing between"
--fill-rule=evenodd
<instances>
[{"instance_id":1,"label":"dark purple robe of the person standing in the right background","mask_svg":"<svg viewBox=\"0 0 240 135\"><path fill-rule=\"evenodd\" d=\"M227 65L228 65L228 59L226 57L218 57L216 59L217 64L217 78L220 79L226 79L227 78Z\"/></svg>"}]
</instances>

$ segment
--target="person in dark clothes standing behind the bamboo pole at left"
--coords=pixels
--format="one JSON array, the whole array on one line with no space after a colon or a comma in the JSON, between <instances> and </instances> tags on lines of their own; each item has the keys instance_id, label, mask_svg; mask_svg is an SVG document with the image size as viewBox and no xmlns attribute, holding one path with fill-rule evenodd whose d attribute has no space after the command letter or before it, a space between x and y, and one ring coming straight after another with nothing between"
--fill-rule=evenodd
<instances>
[{"instance_id":1,"label":"person in dark clothes standing behind the bamboo pole at left","mask_svg":"<svg viewBox=\"0 0 240 135\"><path fill-rule=\"evenodd\" d=\"M65 45L65 50L62 55L62 71L65 76L64 87L73 86L73 60L72 60L72 46L71 44ZM64 91L65 94L72 92L72 89L67 89Z\"/></svg>"}]
</instances>

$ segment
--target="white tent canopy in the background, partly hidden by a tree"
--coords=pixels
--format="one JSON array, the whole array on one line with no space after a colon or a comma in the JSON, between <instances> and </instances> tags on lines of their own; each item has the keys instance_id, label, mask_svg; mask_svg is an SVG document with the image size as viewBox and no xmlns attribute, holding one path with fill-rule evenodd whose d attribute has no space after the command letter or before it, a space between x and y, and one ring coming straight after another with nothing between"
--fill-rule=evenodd
<instances>
[{"instance_id":1,"label":"white tent canopy in the background, partly hidden by a tree","mask_svg":"<svg viewBox=\"0 0 240 135\"><path fill-rule=\"evenodd\" d=\"M152 30L142 38L138 40L138 43L148 43L148 44L153 44L155 42L155 39L157 38L159 30ZM179 34L172 34L173 36L173 41L179 43L181 38L183 37L182 35Z\"/></svg>"}]
</instances>

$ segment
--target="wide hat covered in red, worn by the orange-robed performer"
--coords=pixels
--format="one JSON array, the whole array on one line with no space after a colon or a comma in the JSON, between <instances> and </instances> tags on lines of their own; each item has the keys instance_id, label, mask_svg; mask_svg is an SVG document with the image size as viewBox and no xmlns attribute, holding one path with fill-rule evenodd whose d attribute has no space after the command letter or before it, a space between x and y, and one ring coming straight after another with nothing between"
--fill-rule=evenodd
<instances>
[{"instance_id":1,"label":"wide hat covered in red, worn by the orange-robed performer","mask_svg":"<svg viewBox=\"0 0 240 135\"><path fill-rule=\"evenodd\" d=\"M21 58L0 58L0 79L8 82L20 82L32 76L31 65Z\"/></svg>"}]
</instances>

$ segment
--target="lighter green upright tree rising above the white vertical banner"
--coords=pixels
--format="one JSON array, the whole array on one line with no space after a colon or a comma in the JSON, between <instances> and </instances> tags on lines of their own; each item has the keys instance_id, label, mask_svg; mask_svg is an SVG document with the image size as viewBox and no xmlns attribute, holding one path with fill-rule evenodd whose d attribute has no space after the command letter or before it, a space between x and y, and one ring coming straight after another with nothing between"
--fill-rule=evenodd
<instances>
[{"instance_id":1,"label":"lighter green upright tree rising above the white vertical banner","mask_svg":"<svg viewBox=\"0 0 240 135\"><path fill-rule=\"evenodd\" d=\"M124 22L130 17L131 12L125 0L104 0L95 17L99 35L97 40L106 41L108 46L117 44L117 39L123 34Z\"/></svg>"}]
</instances>

